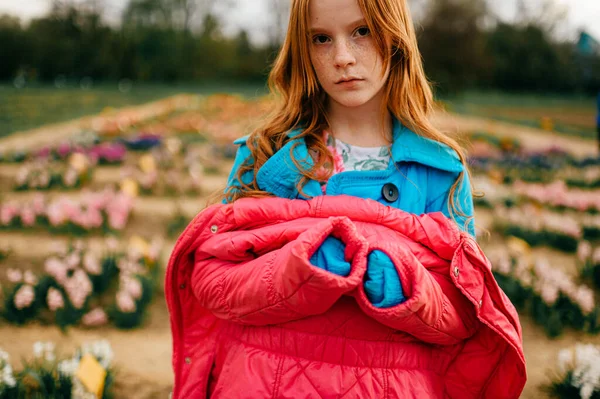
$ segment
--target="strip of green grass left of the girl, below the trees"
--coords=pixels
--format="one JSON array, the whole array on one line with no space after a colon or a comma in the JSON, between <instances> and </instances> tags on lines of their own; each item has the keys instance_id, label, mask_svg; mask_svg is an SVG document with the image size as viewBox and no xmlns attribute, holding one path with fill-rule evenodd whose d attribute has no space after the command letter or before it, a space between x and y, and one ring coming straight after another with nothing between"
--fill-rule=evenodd
<instances>
[{"instance_id":1,"label":"strip of green grass left of the girl, below the trees","mask_svg":"<svg viewBox=\"0 0 600 399\"><path fill-rule=\"evenodd\" d=\"M237 93L255 97L264 94L265 87L261 83L142 84L121 93L116 83L89 90L79 87L57 89L51 85L17 89L10 84L0 84L0 137L96 114L106 107L144 104L180 93Z\"/></svg>"}]
</instances>

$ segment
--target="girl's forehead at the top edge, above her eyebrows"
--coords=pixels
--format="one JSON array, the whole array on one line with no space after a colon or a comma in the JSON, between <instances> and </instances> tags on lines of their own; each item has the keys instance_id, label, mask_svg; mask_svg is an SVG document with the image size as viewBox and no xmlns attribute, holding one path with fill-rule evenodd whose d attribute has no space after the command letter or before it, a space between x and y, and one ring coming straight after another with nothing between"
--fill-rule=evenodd
<instances>
[{"instance_id":1,"label":"girl's forehead at the top edge, above her eyebrows","mask_svg":"<svg viewBox=\"0 0 600 399\"><path fill-rule=\"evenodd\" d=\"M309 3L312 28L349 24L363 17L358 0L310 0Z\"/></svg>"}]
</instances>

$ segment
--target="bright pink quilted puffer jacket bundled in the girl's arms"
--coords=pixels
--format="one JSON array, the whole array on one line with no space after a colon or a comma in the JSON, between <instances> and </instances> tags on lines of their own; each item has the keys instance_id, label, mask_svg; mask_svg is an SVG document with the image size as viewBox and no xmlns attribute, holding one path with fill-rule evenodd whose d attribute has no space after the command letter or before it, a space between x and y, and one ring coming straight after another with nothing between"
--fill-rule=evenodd
<instances>
[{"instance_id":1,"label":"bright pink quilted puffer jacket bundled in the girl's arms","mask_svg":"<svg viewBox=\"0 0 600 399\"><path fill-rule=\"evenodd\" d=\"M347 277L309 262L329 235ZM406 302L369 303L375 249ZM165 292L174 398L518 398L525 385L517 313L441 213L344 196L214 205L179 238Z\"/></svg>"}]
</instances>

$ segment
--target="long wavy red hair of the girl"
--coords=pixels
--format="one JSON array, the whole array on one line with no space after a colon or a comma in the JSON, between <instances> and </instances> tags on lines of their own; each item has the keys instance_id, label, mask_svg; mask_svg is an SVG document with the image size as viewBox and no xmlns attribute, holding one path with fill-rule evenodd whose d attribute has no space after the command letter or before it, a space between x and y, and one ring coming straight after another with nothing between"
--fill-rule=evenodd
<instances>
[{"instance_id":1,"label":"long wavy red hair of the girl","mask_svg":"<svg viewBox=\"0 0 600 399\"><path fill-rule=\"evenodd\" d=\"M434 110L434 98L417 45L417 37L406 0L357 0L377 49L384 59L384 68L390 67L390 75L384 86L385 101L382 117L391 113L404 126L417 134L452 148L465 166L451 188L449 209L454 215L464 216L454 194L464 174L468 173L462 147L448 135L436 129L430 122ZM309 2L292 0L290 23L283 47L269 75L269 88L274 97L275 108L264 124L249 137L247 145L253 162L238 170L238 180L252 171L249 184L230 187L225 193L227 202L243 197L261 197L269 194L261 191L256 183L256 173L261 166L289 140L288 133L300 129L297 138L304 138L307 146L316 154L315 166L302 171L303 178L298 189L309 179L326 179L331 176L333 160L322 140L323 129L328 127L325 102L327 95L319 85L311 64L309 52ZM391 43L391 51L390 51ZM292 159L294 159L292 157ZM294 162L299 166L298 160ZM317 173L325 168L328 174Z\"/></svg>"}]
</instances>

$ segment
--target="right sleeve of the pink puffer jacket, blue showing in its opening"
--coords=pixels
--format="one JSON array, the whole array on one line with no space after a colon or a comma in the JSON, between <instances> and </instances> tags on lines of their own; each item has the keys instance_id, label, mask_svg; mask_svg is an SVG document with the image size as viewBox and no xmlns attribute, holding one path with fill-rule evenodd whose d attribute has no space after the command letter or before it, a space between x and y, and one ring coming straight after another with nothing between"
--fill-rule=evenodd
<instances>
[{"instance_id":1,"label":"right sleeve of the pink puffer jacket, blue showing in its opening","mask_svg":"<svg viewBox=\"0 0 600 399\"><path fill-rule=\"evenodd\" d=\"M368 316L437 345L456 344L476 332L474 307L453 285L447 264L428 269L410 249L392 240L373 243L369 251L374 247L394 263L406 300L396 306L378 308L371 303L364 287L359 287L355 295Z\"/></svg>"}]
</instances>

